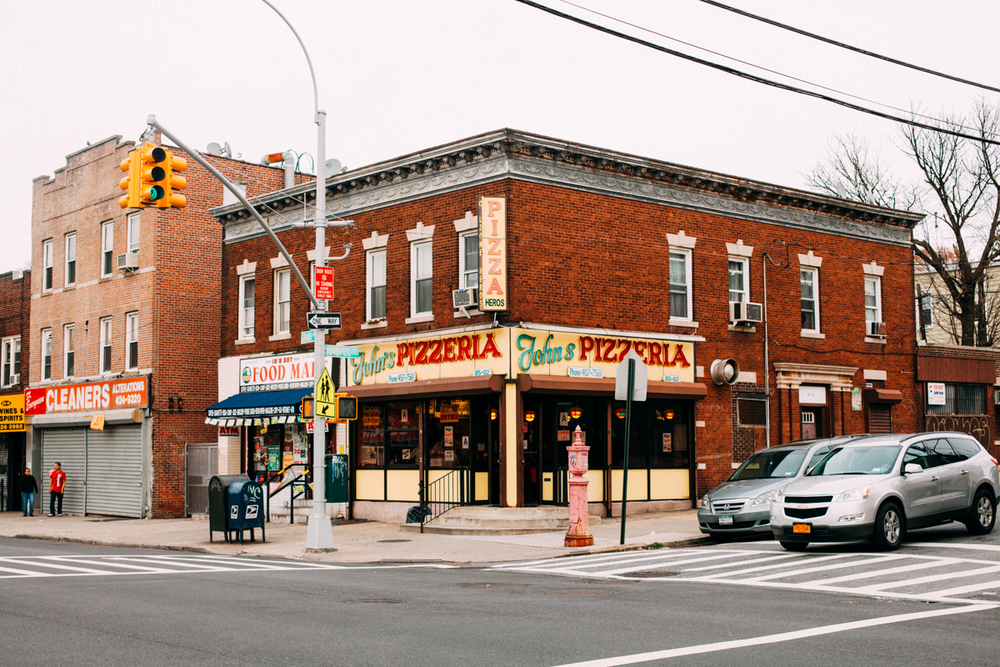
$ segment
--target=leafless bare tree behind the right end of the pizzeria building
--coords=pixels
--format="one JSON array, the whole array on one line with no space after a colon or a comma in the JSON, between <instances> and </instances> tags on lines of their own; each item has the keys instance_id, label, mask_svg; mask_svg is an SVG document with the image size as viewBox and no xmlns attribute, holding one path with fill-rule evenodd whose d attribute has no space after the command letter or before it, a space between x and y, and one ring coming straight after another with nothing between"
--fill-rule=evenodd
<instances>
[{"instance_id":1,"label":"leafless bare tree behind the right end of the pizzeria building","mask_svg":"<svg viewBox=\"0 0 1000 667\"><path fill-rule=\"evenodd\" d=\"M972 118L952 116L942 127L995 139L998 110L980 103ZM972 128L970 130L970 127ZM867 142L840 139L827 165L808 176L811 185L829 194L876 206L936 213L951 246L934 247L930 239L913 239L913 252L937 273L947 295L946 310L959 322L955 342L990 346L995 340L993 308L986 278L1000 258L1000 155L998 147L910 125L902 127L903 150L923 175L919 186L891 177L871 155Z\"/></svg>"}]
</instances>

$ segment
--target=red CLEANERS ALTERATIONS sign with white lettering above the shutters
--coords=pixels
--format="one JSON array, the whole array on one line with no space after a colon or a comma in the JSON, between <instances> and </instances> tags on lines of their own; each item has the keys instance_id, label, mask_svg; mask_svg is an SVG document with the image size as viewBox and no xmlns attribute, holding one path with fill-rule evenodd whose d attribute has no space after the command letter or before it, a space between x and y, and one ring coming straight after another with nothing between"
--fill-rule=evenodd
<instances>
[{"instance_id":1,"label":"red CLEANERS ALTERATIONS sign with white lettering above the shutters","mask_svg":"<svg viewBox=\"0 0 1000 667\"><path fill-rule=\"evenodd\" d=\"M24 413L28 415L146 407L149 378L145 375L24 390Z\"/></svg>"}]
</instances>

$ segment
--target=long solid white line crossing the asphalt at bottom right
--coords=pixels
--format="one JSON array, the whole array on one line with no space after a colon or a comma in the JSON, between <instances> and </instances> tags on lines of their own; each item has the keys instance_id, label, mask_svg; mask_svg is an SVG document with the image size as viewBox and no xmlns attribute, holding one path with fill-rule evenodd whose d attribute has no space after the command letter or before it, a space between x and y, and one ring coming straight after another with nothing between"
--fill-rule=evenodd
<instances>
[{"instance_id":1,"label":"long solid white line crossing the asphalt at bottom right","mask_svg":"<svg viewBox=\"0 0 1000 667\"><path fill-rule=\"evenodd\" d=\"M634 665L640 662L651 660L666 660L688 655L700 655L703 653L713 653L717 651L729 651L748 646L763 646L766 644L779 644L782 642L806 639L808 637L820 637L838 632L848 632L850 630L861 630L864 628L877 627L880 625L891 625L894 623L908 623L925 618L935 618L938 616L950 616L952 614L966 614L977 611L987 611L996 609L1000 605L978 604L965 607L955 607L952 609L934 609L931 611L921 611L912 614L897 614L894 616L883 616L864 621L850 621L848 623L836 623L834 625L824 625L816 628L806 628L793 632L782 632L774 635L764 635L762 637L752 637L750 639L737 639L728 642L716 642L713 644L701 644L698 646L685 646L682 648L667 649L663 651L649 651L647 653L635 653L614 658L601 658L598 660L587 660L585 662L574 662L557 667L617 667L619 665Z\"/></svg>"}]
</instances>

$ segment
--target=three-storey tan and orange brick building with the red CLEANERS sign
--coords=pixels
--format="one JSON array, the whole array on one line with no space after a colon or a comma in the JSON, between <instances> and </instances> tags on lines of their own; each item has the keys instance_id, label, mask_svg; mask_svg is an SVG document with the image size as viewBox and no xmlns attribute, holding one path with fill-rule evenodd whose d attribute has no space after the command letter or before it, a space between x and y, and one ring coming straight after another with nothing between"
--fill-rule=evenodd
<instances>
[{"instance_id":1,"label":"three-storey tan and orange brick building with the red CLEANERS sign","mask_svg":"<svg viewBox=\"0 0 1000 667\"><path fill-rule=\"evenodd\" d=\"M158 137L154 140L158 142ZM122 209L118 136L33 183L28 458L62 463L69 513L185 514L185 445L214 442L222 185L187 159L186 208ZM177 156L185 157L180 150ZM278 169L214 156L251 195Z\"/></svg>"}]
</instances>

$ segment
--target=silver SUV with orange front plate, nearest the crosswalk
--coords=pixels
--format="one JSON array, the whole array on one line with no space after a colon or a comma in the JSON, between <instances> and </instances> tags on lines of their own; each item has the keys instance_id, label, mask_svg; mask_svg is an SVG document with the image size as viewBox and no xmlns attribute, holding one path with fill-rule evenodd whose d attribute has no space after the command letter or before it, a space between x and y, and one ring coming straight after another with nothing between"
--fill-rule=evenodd
<instances>
[{"instance_id":1,"label":"silver SUV with orange front plate, nearest the crosswalk","mask_svg":"<svg viewBox=\"0 0 1000 667\"><path fill-rule=\"evenodd\" d=\"M861 438L775 494L771 530L790 551L855 540L896 549L907 530L949 520L982 535L996 521L997 466L964 433Z\"/></svg>"}]
</instances>

